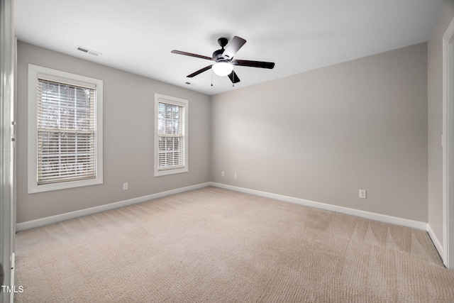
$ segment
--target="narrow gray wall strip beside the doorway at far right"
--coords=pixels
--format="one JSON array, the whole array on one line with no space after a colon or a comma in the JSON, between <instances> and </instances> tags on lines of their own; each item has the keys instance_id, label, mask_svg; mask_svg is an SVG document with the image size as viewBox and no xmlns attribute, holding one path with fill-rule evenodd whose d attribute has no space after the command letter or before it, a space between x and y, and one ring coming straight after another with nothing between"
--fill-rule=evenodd
<instances>
[{"instance_id":1,"label":"narrow gray wall strip beside the doorway at far right","mask_svg":"<svg viewBox=\"0 0 454 303\"><path fill-rule=\"evenodd\" d=\"M428 40L428 223L443 245L443 48L442 38L454 18L454 1L445 2Z\"/></svg>"}]
</instances>

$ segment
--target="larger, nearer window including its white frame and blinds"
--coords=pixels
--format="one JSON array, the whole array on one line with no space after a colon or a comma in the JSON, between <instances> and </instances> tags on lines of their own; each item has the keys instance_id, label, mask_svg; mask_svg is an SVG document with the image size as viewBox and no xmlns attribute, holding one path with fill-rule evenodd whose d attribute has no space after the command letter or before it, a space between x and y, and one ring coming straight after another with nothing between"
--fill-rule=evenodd
<instances>
[{"instance_id":1,"label":"larger, nearer window including its white frame and blinds","mask_svg":"<svg viewBox=\"0 0 454 303\"><path fill-rule=\"evenodd\" d=\"M98 79L28 65L28 193L101 184Z\"/></svg>"}]
</instances>

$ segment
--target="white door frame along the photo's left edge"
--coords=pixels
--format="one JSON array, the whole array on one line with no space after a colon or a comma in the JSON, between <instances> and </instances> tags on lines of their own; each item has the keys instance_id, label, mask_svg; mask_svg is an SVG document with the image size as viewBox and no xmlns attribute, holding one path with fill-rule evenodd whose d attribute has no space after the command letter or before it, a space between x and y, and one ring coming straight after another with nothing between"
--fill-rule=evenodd
<instances>
[{"instance_id":1,"label":"white door frame along the photo's left edge","mask_svg":"<svg viewBox=\"0 0 454 303\"><path fill-rule=\"evenodd\" d=\"M16 236L16 38L14 1L0 0L0 263L2 285L14 285L14 245ZM13 292L0 291L0 303L13 302Z\"/></svg>"}]
</instances>

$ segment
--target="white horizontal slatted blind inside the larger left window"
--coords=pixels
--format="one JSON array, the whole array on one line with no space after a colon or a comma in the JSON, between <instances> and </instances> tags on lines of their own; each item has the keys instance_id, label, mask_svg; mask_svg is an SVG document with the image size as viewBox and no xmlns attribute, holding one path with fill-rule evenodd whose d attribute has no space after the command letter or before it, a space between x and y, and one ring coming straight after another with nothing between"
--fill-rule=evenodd
<instances>
[{"instance_id":1,"label":"white horizontal slatted blind inside the larger left window","mask_svg":"<svg viewBox=\"0 0 454 303\"><path fill-rule=\"evenodd\" d=\"M96 90L38 78L38 184L96 177Z\"/></svg>"}]
</instances>

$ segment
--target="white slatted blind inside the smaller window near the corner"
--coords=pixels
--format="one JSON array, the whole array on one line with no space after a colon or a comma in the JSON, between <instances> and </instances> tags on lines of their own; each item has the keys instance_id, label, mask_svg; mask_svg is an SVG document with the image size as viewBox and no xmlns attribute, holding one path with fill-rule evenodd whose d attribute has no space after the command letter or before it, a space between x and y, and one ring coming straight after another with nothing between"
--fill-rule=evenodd
<instances>
[{"instance_id":1,"label":"white slatted blind inside the smaller window near the corner","mask_svg":"<svg viewBox=\"0 0 454 303\"><path fill-rule=\"evenodd\" d=\"M158 104L158 170L171 170L186 165L184 158L184 106Z\"/></svg>"}]
</instances>

